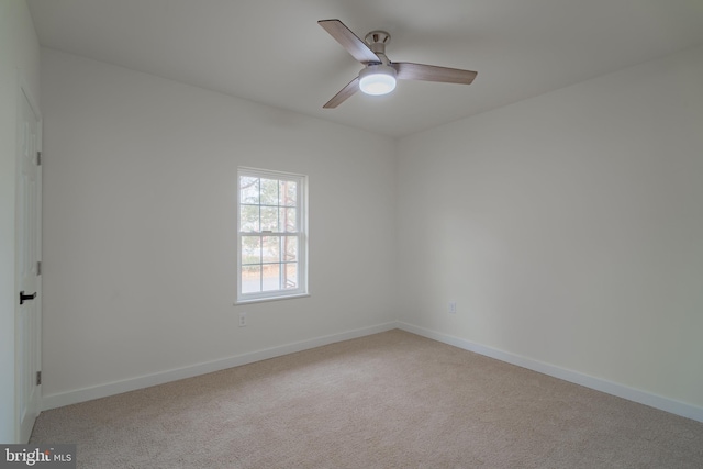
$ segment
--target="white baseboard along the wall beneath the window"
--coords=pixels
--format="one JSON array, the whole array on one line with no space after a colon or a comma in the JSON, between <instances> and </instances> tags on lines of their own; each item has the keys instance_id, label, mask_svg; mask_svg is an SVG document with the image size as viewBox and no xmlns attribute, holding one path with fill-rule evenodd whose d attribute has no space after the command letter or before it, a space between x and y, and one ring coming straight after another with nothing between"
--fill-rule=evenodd
<instances>
[{"instance_id":1,"label":"white baseboard along the wall beneath the window","mask_svg":"<svg viewBox=\"0 0 703 469\"><path fill-rule=\"evenodd\" d=\"M339 334L332 334L311 338L308 340L297 342L293 344L286 344L279 347L256 350L230 358L224 358L221 360L191 365L183 368L160 371L157 373L130 378L121 381L113 381L105 384L93 386L90 388L44 395L42 398L42 410L47 411L49 409L62 407L64 405L77 404L79 402L91 401L93 399L107 398L109 395L121 394L123 392L135 391L137 389L148 388L152 386L164 384L166 382L177 381L179 379L192 378L213 371L220 371L227 368L253 364L255 361L280 357L282 355L293 354L295 351L302 351L310 348L321 347L323 345L334 344L336 342L349 340L352 338L378 334L393 328L398 328L398 323L391 322L386 324L378 324L376 326L347 331Z\"/></svg>"}]
</instances>

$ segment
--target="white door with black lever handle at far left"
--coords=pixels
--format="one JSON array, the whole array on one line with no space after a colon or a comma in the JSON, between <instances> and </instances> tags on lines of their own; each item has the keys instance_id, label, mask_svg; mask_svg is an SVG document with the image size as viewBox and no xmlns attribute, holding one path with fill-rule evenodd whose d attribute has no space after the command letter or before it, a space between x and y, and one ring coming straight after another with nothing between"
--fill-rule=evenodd
<instances>
[{"instance_id":1,"label":"white door with black lever handle at far left","mask_svg":"<svg viewBox=\"0 0 703 469\"><path fill-rule=\"evenodd\" d=\"M16 278L15 308L15 410L21 443L29 442L40 413L42 364L42 170L41 122L24 92L19 97Z\"/></svg>"}]
</instances>

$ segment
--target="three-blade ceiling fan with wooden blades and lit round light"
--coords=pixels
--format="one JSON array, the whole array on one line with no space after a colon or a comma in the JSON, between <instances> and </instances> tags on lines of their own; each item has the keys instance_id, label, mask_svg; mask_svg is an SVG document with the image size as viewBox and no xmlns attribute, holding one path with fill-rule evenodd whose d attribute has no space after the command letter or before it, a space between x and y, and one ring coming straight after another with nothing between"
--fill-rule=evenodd
<instances>
[{"instance_id":1,"label":"three-blade ceiling fan with wooden blades and lit round light","mask_svg":"<svg viewBox=\"0 0 703 469\"><path fill-rule=\"evenodd\" d=\"M395 89L395 79L471 85L477 76L476 71L458 68L390 62L386 56L386 44L391 35L386 31L371 31L361 41L339 20L321 20L317 24L365 66L358 77L323 105L324 109L336 108L359 89L367 94L387 94Z\"/></svg>"}]
</instances>

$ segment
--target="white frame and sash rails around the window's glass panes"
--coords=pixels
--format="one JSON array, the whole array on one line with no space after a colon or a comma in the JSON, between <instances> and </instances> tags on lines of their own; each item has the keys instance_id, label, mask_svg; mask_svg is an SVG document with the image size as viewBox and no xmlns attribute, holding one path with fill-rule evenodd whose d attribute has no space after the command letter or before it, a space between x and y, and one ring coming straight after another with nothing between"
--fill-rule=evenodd
<instances>
[{"instance_id":1,"label":"white frame and sash rails around the window's glass panes","mask_svg":"<svg viewBox=\"0 0 703 469\"><path fill-rule=\"evenodd\" d=\"M295 181L295 226L297 232L274 232L274 231L242 231L242 177L254 177L264 179L277 179ZM290 298L308 297L308 176L292 172L274 171L268 169L257 169L248 167L237 168L237 299L236 304L252 303L259 301L284 300ZM242 239L247 235L257 236L295 236L298 237L298 286L294 289L279 289L270 291L248 292L242 291ZM261 265L265 263L261 259ZM281 263L282 265L282 263Z\"/></svg>"}]
</instances>

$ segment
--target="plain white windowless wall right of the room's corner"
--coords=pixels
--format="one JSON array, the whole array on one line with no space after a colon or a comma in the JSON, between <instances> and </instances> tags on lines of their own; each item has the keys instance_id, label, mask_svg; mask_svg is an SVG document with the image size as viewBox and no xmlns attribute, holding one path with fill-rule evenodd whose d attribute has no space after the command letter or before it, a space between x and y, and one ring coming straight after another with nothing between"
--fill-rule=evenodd
<instances>
[{"instance_id":1,"label":"plain white windowless wall right of the room's corner","mask_svg":"<svg viewBox=\"0 0 703 469\"><path fill-rule=\"evenodd\" d=\"M402 138L401 320L703 411L701 77L703 47Z\"/></svg>"}]
</instances>

